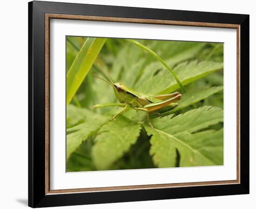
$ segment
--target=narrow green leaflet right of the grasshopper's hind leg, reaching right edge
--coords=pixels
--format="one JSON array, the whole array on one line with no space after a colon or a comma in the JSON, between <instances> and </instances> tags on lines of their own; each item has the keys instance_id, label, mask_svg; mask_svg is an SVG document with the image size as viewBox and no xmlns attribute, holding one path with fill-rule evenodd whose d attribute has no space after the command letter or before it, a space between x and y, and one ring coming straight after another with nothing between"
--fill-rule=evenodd
<instances>
[{"instance_id":1,"label":"narrow green leaflet right of the grasshopper's hind leg, reaching right edge","mask_svg":"<svg viewBox=\"0 0 256 209\"><path fill-rule=\"evenodd\" d=\"M223 90L223 86L214 86L214 87L210 87L207 89L202 89L199 91L193 91L193 92L186 92L184 94L182 94L182 98L177 102L178 106L176 106L175 108L173 108L170 111L164 112L163 114L161 114L161 116L163 115L169 115L172 112L181 110L185 107L188 107L192 104L195 104L205 98L208 98L209 96L222 91Z\"/></svg>"}]
</instances>

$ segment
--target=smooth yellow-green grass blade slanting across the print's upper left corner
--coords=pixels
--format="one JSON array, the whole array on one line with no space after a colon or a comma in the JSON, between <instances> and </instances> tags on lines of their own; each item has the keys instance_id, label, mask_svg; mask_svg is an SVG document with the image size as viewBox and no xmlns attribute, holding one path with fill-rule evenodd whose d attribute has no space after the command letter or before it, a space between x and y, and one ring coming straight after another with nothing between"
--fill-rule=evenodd
<instances>
[{"instance_id":1,"label":"smooth yellow-green grass blade slanting across the print's upper left corner","mask_svg":"<svg viewBox=\"0 0 256 209\"><path fill-rule=\"evenodd\" d=\"M67 72L67 104L74 97L106 40L102 38L88 38L81 47Z\"/></svg>"}]
</instances>

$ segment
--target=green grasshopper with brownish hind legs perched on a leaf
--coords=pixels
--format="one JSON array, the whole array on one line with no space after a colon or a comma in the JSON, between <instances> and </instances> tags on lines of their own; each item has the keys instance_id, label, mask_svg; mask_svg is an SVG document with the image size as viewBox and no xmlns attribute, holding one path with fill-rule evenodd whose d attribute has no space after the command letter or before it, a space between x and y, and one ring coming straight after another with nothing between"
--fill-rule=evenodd
<instances>
[{"instance_id":1,"label":"green grasshopper with brownish hind legs perched on a leaf","mask_svg":"<svg viewBox=\"0 0 256 209\"><path fill-rule=\"evenodd\" d=\"M108 78L108 80L105 80L104 78L101 78L95 74L94 76L107 82L109 85L113 87L115 96L121 104L96 104L94 105L94 108L105 106L124 107L120 112L116 113L113 116L112 120L124 111L126 111L128 107L131 107L134 110L145 111L147 113L148 124L153 128L153 125L149 121L149 114L160 114L158 111L168 111L174 108L176 105L178 105L174 102L182 97L182 95L179 92L155 95L146 95L141 92L137 92L134 89L129 88L124 84L121 84L120 82L114 83L113 80L109 77L108 73L102 69L101 65L99 66L103 74Z\"/></svg>"}]
</instances>

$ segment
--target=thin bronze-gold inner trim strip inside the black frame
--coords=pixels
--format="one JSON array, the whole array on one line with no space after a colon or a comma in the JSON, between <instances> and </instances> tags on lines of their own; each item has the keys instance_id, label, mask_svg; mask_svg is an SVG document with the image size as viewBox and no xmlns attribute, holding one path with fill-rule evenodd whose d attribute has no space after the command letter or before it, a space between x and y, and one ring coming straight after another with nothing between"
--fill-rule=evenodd
<instances>
[{"instance_id":1,"label":"thin bronze-gold inner trim strip inside the black frame","mask_svg":"<svg viewBox=\"0 0 256 209\"><path fill-rule=\"evenodd\" d=\"M236 133L236 180L227 181L209 181L209 182L190 182L190 183L166 183L134 186L115 186L115 187L98 187L98 188L81 188L81 189L50 189L50 19L65 20L91 20L91 21L108 21L108 22L125 22L125 23L143 23L159 25L176 25L176 26L201 26L201 27L220 27L235 28L237 34L237 57L236 57L236 78L237 78L237 133ZM101 192L117 190L135 190L135 189L161 189L173 187L188 186L209 186L221 184L238 184L240 183L240 25L207 23L207 22L188 22L175 20L151 20L151 19L134 19L134 18L116 18L103 16L86 16L86 15L69 15L69 14L45 14L45 194L54 195L60 193L81 193L81 192Z\"/></svg>"}]
</instances>

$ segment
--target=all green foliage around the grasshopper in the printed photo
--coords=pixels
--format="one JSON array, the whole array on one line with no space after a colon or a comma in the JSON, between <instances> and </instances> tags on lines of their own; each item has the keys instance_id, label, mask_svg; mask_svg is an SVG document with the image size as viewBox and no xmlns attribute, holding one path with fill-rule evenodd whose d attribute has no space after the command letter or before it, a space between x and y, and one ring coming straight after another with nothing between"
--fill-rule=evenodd
<instances>
[{"instance_id":1,"label":"all green foliage around the grasshopper in the printed photo","mask_svg":"<svg viewBox=\"0 0 256 209\"><path fill-rule=\"evenodd\" d=\"M86 41L86 42L85 42ZM223 44L136 40L175 72L186 93L173 110L152 116L116 107L99 63L114 82L145 94L181 91L150 53L125 39L67 37L67 171L223 164ZM80 52L79 52L80 51ZM69 95L69 96L68 96Z\"/></svg>"}]
</instances>

